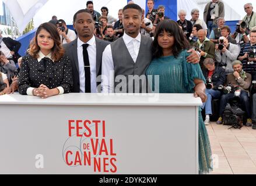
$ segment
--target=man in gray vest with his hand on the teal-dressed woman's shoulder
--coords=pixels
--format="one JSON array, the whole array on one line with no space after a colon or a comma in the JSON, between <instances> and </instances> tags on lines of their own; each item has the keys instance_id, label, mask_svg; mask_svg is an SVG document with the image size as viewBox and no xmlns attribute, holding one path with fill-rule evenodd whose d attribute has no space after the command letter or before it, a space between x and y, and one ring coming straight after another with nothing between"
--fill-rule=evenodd
<instances>
[{"instance_id":1,"label":"man in gray vest with his hand on the teal-dressed woman's shoulder","mask_svg":"<svg viewBox=\"0 0 256 186\"><path fill-rule=\"evenodd\" d=\"M141 7L136 4L125 6L122 20L124 36L103 52L101 92L146 93L145 71L152 61L152 38L139 33ZM199 56L194 52L188 60L199 62Z\"/></svg>"}]
</instances>

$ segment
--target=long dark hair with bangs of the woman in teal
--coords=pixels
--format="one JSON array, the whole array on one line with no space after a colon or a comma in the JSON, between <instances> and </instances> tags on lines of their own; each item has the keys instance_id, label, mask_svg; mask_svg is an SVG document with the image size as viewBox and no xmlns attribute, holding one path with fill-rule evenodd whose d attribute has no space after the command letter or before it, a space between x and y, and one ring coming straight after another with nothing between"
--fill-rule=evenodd
<instances>
[{"instance_id":1,"label":"long dark hair with bangs of the woman in teal","mask_svg":"<svg viewBox=\"0 0 256 186\"><path fill-rule=\"evenodd\" d=\"M157 24L157 27L156 27L155 40L152 43L153 58L160 58L161 56L163 56L163 49L158 44L158 36L160 33L163 33L163 31L170 33L174 37L174 45L173 45L174 57L177 58L183 49L190 49L190 44L187 38L185 38L181 28L178 26L178 23L170 19L165 19L159 24Z\"/></svg>"}]
</instances>

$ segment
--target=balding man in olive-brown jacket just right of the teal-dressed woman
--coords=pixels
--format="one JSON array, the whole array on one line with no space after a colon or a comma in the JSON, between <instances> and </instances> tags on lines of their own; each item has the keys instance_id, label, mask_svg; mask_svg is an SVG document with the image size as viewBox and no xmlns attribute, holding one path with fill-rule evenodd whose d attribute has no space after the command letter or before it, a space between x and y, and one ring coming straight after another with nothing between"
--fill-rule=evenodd
<instances>
[{"instance_id":1,"label":"balding man in olive-brown jacket just right of the teal-dressed woman","mask_svg":"<svg viewBox=\"0 0 256 186\"><path fill-rule=\"evenodd\" d=\"M197 37L197 42L192 46L201 54L199 65L201 66L202 71L204 71L204 60L206 58L214 59L215 57L215 45L206 37L205 30L199 30L197 32Z\"/></svg>"}]
</instances>

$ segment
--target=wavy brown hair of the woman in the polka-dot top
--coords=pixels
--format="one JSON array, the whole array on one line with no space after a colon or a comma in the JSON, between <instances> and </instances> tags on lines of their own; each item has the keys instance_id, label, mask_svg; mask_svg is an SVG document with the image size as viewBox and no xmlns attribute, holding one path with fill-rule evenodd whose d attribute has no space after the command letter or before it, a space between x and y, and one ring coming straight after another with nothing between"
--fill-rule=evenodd
<instances>
[{"instance_id":1,"label":"wavy brown hair of the woman in the polka-dot top","mask_svg":"<svg viewBox=\"0 0 256 186\"><path fill-rule=\"evenodd\" d=\"M65 51L61 44L61 38L59 37L57 26L54 26L54 24L52 23L43 23L37 28L36 36L34 37L33 42L30 43L29 55L33 56L34 59L38 58L38 52L40 51L40 47L37 43L37 36L43 29L50 33L51 37L54 40L54 47L51 49L52 58L55 61L60 60L64 56Z\"/></svg>"}]
</instances>

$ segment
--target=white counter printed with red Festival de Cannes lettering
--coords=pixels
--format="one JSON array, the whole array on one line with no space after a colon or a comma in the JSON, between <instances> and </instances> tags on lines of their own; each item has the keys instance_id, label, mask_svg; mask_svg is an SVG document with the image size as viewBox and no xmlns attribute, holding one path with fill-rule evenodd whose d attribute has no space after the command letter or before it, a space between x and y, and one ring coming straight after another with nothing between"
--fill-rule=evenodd
<instances>
[{"instance_id":1,"label":"white counter printed with red Festival de Cannes lettering","mask_svg":"<svg viewBox=\"0 0 256 186\"><path fill-rule=\"evenodd\" d=\"M197 174L200 105L192 94L0 96L0 174Z\"/></svg>"}]
</instances>

